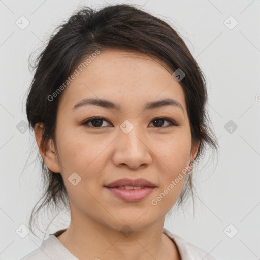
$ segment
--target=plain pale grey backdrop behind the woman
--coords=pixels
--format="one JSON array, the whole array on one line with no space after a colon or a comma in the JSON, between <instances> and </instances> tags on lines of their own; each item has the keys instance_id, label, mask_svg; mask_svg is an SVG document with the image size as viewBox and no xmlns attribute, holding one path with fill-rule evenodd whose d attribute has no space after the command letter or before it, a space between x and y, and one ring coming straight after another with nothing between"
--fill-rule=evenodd
<instances>
[{"instance_id":1,"label":"plain pale grey backdrop behind the woman","mask_svg":"<svg viewBox=\"0 0 260 260\"><path fill-rule=\"evenodd\" d=\"M208 154L208 166L194 170L194 215L187 203L166 219L165 227L218 259L259 259L260 1L107 2L138 4L173 25L207 79L219 157ZM40 239L17 232L28 226L42 186L39 163L34 163L37 150L26 129L25 98L32 79L28 57L83 5L99 8L106 2L0 1L0 259L20 259L44 238L40 231ZM28 26L18 26L19 19ZM42 231L50 220L45 216L40 221ZM66 228L69 220L62 213L47 232Z\"/></svg>"}]
</instances>

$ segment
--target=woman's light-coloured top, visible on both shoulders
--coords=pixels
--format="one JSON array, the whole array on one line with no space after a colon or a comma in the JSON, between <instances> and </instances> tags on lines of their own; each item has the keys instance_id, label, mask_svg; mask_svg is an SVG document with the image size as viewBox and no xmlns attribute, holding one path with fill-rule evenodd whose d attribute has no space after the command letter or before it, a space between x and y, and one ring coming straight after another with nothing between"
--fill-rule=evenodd
<instances>
[{"instance_id":1,"label":"woman's light-coloured top, visible on both shoulders","mask_svg":"<svg viewBox=\"0 0 260 260\"><path fill-rule=\"evenodd\" d=\"M50 234L49 238L43 240L39 248L27 254L20 260L79 260L64 247L57 238L57 236L62 234L65 230L66 229L59 230L54 234ZM165 228L164 233L175 243L180 253L181 260L216 260L201 248L172 234Z\"/></svg>"}]
</instances>

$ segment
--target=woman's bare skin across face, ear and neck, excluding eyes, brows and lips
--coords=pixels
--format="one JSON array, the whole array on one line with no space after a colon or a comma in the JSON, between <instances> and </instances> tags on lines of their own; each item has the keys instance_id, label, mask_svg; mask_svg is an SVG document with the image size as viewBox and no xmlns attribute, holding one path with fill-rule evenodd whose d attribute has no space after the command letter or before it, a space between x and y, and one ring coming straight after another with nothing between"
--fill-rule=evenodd
<instances>
[{"instance_id":1,"label":"woman's bare skin across face, ear and neck, excluding eyes, brows and lips","mask_svg":"<svg viewBox=\"0 0 260 260\"><path fill-rule=\"evenodd\" d=\"M95 105L73 110L84 98L107 99L121 110ZM183 110L164 106L144 111L145 103L165 98L175 99ZM93 116L108 121L99 128L81 124ZM156 117L179 126L163 121L159 127ZM125 120L134 126L128 134L120 129ZM45 151L40 148L42 126L35 127L41 155L50 170L61 173L69 194L71 224L58 239L72 254L79 259L180 259L163 226L185 175L156 206L151 200L190 164L199 144L191 149L184 92L162 62L142 53L102 51L63 90L56 146L50 139ZM81 177L76 186L68 179L74 172ZM144 178L156 188L142 201L125 202L104 187L121 178ZM126 224L133 231L128 237L120 232Z\"/></svg>"}]
</instances>

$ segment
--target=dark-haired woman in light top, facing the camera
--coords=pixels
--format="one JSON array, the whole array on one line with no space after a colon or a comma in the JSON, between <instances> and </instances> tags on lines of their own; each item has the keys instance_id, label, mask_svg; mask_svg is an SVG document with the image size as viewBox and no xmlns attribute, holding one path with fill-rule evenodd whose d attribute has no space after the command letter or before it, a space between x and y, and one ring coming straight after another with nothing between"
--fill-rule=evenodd
<instances>
[{"instance_id":1,"label":"dark-haired woman in light top, facing the camera","mask_svg":"<svg viewBox=\"0 0 260 260\"><path fill-rule=\"evenodd\" d=\"M22 260L214 259L164 228L206 145L203 74L177 32L131 5L82 8L38 58L26 104L67 229Z\"/></svg>"}]
</instances>

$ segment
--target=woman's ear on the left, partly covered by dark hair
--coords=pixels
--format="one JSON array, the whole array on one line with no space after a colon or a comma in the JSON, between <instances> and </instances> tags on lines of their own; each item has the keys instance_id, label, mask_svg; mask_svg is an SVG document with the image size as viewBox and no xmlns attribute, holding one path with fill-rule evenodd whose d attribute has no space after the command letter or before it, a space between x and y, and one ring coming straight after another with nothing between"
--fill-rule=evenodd
<instances>
[{"instance_id":1,"label":"woman's ear on the left, partly covered by dark hair","mask_svg":"<svg viewBox=\"0 0 260 260\"><path fill-rule=\"evenodd\" d=\"M41 153L41 156L44 159L44 162L46 166L55 173L60 173L60 168L58 164L58 158L54 147L53 139L50 139L48 141L48 144L46 146L43 145L43 130L44 130L44 124L43 123L37 123L35 125L35 139L36 143L38 145L39 151Z\"/></svg>"}]
</instances>

